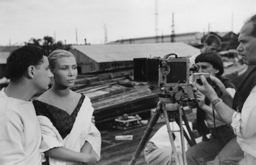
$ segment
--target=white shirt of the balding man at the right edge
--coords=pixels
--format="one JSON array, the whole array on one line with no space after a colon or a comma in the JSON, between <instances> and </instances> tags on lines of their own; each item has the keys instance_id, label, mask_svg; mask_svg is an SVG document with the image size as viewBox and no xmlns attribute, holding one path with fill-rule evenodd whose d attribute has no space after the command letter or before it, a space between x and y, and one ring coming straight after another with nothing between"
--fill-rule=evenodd
<instances>
[{"instance_id":1,"label":"white shirt of the balding man at the right edge","mask_svg":"<svg viewBox=\"0 0 256 165\"><path fill-rule=\"evenodd\" d=\"M242 112L233 114L231 126L241 149L256 158L256 86L244 102Z\"/></svg>"}]
</instances>

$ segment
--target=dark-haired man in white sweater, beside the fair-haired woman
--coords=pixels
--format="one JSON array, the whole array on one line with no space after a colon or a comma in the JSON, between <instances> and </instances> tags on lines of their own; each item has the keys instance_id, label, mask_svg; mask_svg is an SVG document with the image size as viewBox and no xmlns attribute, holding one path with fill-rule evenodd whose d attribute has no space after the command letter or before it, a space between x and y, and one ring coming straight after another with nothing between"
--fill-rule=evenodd
<instances>
[{"instance_id":1,"label":"dark-haired man in white sweater, beside the fair-haired woman","mask_svg":"<svg viewBox=\"0 0 256 165\"><path fill-rule=\"evenodd\" d=\"M0 164L41 165L41 129L32 97L48 89L47 52L23 46L7 58L10 83L0 91Z\"/></svg>"}]
</instances>

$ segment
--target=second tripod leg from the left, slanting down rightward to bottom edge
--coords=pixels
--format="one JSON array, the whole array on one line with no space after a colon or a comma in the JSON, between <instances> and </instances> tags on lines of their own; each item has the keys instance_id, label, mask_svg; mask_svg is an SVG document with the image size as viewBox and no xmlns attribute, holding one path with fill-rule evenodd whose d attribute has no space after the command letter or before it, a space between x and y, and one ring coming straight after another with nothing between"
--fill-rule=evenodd
<instances>
[{"instance_id":1,"label":"second tripod leg from the left, slanting down rightward to bottom edge","mask_svg":"<svg viewBox=\"0 0 256 165\"><path fill-rule=\"evenodd\" d=\"M172 145L172 152L173 152L173 155L174 155L175 163L176 163L176 165L180 165L180 160L178 158L178 153L177 153L176 148L175 148L174 139L172 137L171 127L170 127L170 123L169 123L165 103L163 103L163 116L164 116L164 119L165 119L165 122L166 122L167 131L168 131L170 142L171 142L171 145Z\"/></svg>"}]
</instances>

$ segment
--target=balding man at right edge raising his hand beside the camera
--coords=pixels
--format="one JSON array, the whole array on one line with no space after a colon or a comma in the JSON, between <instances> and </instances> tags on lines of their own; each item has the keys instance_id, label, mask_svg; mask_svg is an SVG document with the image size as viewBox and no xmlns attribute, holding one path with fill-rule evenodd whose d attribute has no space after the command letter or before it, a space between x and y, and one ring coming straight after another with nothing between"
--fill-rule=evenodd
<instances>
[{"instance_id":1,"label":"balding man at right edge raising his hand beside the camera","mask_svg":"<svg viewBox=\"0 0 256 165\"><path fill-rule=\"evenodd\" d=\"M256 15L247 20L239 33L239 46L244 64L256 65ZM215 77L211 76L225 93L224 85ZM237 142L244 151L244 159L240 164L256 164L256 67L244 78L233 99L233 109L222 102L213 88L201 76L203 85L197 84L198 90L209 98L219 116L233 127L237 136ZM226 95L226 97L230 97ZM234 110L236 109L236 110Z\"/></svg>"}]
</instances>

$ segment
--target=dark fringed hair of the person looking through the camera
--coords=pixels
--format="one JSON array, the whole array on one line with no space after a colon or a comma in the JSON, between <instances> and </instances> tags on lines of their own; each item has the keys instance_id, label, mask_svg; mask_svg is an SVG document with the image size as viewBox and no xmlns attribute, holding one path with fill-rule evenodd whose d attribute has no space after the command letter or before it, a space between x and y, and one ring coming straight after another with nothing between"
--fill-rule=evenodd
<instances>
[{"instance_id":1,"label":"dark fringed hair of the person looking through the camera","mask_svg":"<svg viewBox=\"0 0 256 165\"><path fill-rule=\"evenodd\" d=\"M215 52L204 52L198 55L195 58L195 64L199 62L207 62L212 64L212 67L215 69L218 69L219 72L216 73L216 76L221 76L224 73L224 67L223 67L223 62L221 59L221 56L218 55Z\"/></svg>"}]
</instances>

